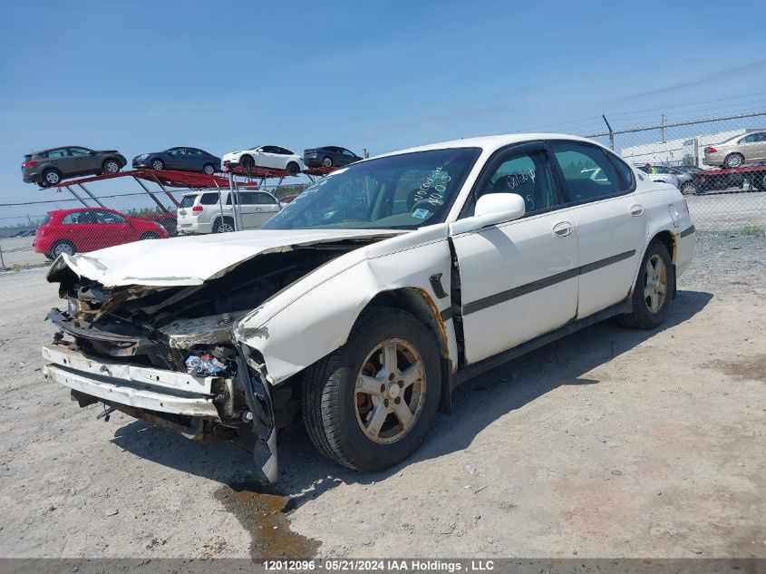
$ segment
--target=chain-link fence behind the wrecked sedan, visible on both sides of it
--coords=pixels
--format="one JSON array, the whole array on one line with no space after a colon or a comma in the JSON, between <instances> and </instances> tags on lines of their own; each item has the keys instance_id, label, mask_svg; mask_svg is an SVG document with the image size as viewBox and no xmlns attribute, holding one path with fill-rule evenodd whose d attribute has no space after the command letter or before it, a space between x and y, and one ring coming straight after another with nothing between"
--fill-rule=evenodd
<instances>
[{"instance_id":1,"label":"chain-link fence behind the wrecked sedan, visible on both sides of it","mask_svg":"<svg viewBox=\"0 0 766 574\"><path fill-rule=\"evenodd\" d=\"M611 147L650 179L682 190L700 232L763 235L766 112L614 131L604 120L607 130L587 137ZM100 189L113 190L110 181L100 182ZM8 213L0 218L0 268L44 265L58 253L130 241L256 229L310 183L269 181L274 180L240 188L238 202L228 190L163 189L150 194L141 186L75 195L64 185L71 194L64 190L56 194L58 199L41 194L41 199L5 204L0 206Z\"/></svg>"}]
</instances>

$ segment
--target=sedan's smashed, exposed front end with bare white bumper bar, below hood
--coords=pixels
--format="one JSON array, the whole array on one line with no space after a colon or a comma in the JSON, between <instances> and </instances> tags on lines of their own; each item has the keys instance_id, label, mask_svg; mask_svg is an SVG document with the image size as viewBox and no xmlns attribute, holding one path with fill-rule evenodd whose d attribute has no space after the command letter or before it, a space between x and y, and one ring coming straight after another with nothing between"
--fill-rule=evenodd
<instances>
[{"instance_id":1,"label":"sedan's smashed, exposed front end with bare white bumper bar, below hood","mask_svg":"<svg viewBox=\"0 0 766 574\"><path fill-rule=\"evenodd\" d=\"M119 410L199 441L243 443L261 480L274 482L276 434L292 422L298 393L289 384L270 388L262 359L238 343L235 327L317 268L380 238L282 246L226 269L211 266L208 277L151 285L109 287L82 277L84 260L76 267L59 259L49 280L60 284L66 308L46 317L58 332L43 348L44 374L81 406L101 402L105 414ZM108 260L92 257L87 265L112 277Z\"/></svg>"}]
</instances>

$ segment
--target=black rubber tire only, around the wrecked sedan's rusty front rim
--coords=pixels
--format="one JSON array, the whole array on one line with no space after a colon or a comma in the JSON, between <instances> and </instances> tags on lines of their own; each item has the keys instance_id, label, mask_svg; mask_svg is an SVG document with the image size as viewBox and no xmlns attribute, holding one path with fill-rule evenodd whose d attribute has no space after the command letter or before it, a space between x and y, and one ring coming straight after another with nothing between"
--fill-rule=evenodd
<instances>
[{"instance_id":1,"label":"black rubber tire only, around the wrecked sedan's rusty front rim","mask_svg":"<svg viewBox=\"0 0 766 574\"><path fill-rule=\"evenodd\" d=\"M368 355L394 338L412 345L420 355L424 398L412 426L400 438L377 443L357 419L356 377ZM302 411L305 428L317 450L333 462L368 472L388 468L410 456L431 429L439 408L441 365L435 340L431 331L409 313L387 307L364 311L348 342L306 369Z\"/></svg>"}]
</instances>

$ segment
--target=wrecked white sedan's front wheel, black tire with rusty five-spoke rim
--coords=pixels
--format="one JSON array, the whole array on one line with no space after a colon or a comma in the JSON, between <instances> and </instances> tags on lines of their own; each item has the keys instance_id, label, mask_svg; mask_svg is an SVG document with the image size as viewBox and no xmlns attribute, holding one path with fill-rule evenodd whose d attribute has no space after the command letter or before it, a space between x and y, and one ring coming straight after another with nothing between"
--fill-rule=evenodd
<instances>
[{"instance_id":1,"label":"wrecked white sedan's front wheel, black tire with rusty five-spoke rim","mask_svg":"<svg viewBox=\"0 0 766 574\"><path fill-rule=\"evenodd\" d=\"M439 407L434 340L409 313L365 311L346 345L305 374L304 422L319 452L359 471L379 471L412 454Z\"/></svg>"}]
</instances>

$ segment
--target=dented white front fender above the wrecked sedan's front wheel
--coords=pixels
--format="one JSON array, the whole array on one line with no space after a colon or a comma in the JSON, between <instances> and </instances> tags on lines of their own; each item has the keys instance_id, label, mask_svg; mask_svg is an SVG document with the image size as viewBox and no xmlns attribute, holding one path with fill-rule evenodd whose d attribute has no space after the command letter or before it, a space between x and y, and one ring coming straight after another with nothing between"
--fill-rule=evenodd
<instances>
[{"instance_id":1,"label":"dented white front fender above the wrecked sedan's front wheel","mask_svg":"<svg viewBox=\"0 0 766 574\"><path fill-rule=\"evenodd\" d=\"M446 225L413 231L357 249L315 270L242 319L234 334L264 357L268 382L280 384L343 346L373 297L409 288L419 291L437 311L434 318L447 339L445 358L456 365L457 342L449 318L450 271ZM443 287L439 294L430 281L438 274Z\"/></svg>"}]
</instances>

